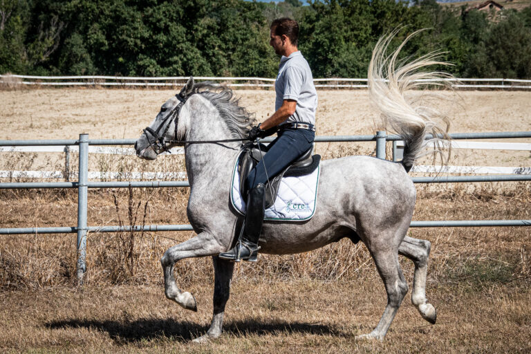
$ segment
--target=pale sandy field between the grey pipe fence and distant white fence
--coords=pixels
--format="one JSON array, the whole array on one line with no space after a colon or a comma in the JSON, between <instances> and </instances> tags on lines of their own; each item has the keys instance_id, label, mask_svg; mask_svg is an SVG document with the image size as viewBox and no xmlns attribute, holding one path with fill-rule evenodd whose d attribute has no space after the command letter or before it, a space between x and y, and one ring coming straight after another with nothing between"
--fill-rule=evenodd
<instances>
[{"instance_id":1,"label":"pale sandy field between the grey pipe fence and distant white fence","mask_svg":"<svg viewBox=\"0 0 531 354\"><path fill-rule=\"evenodd\" d=\"M76 139L80 133L93 139L136 138L172 94L171 90L104 88L0 91L0 139ZM318 136L374 134L380 127L379 113L369 103L368 91L319 90L318 94ZM272 90L237 90L235 95L259 122L274 111ZM451 133L531 130L531 91L456 91L443 96L445 100L436 106L449 116ZM366 155L374 149L373 142L316 146L324 158L346 152ZM60 160L58 155L49 157ZM530 157L529 151L454 149L449 165L529 167ZM429 158L420 160L420 164L429 162ZM47 169L45 165L41 161L38 168ZM15 168L0 161L0 169Z\"/></svg>"}]
</instances>

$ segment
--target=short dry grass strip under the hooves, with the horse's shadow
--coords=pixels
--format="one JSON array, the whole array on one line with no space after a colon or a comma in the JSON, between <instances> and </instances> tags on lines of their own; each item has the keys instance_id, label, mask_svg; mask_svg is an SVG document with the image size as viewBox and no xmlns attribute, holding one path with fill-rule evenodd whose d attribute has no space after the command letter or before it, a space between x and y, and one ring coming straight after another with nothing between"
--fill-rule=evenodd
<instances>
[{"instance_id":1,"label":"short dry grass strip under the hooves, with the horse's shadow","mask_svg":"<svg viewBox=\"0 0 531 354\"><path fill-rule=\"evenodd\" d=\"M456 291L456 289L459 289ZM438 324L409 299L384 342L357 341L378 321L386 299L375 280L236 281L225 334L191 339L209 326L212 286L194 286L197 313L162 301L145 286L53 288L0 294L0 348L7 353L529 353L531 293L513 286L431 283ZM6 308L5 306L8 306Z\"/></svg>"}]
</instances>

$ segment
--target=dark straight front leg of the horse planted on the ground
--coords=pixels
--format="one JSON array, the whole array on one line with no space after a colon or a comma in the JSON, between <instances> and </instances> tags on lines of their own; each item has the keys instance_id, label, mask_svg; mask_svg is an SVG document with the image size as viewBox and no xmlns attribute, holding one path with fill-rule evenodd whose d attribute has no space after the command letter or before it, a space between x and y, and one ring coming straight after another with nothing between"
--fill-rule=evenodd
<instances>
[{"instance_id":1,"label":"dark straight front leg of the horse planted on the ground","mask_svg":"<svg viewBox=\"0 0 531 354\"><path fill-rule=\"evenodd\" d=\"M227 304L230 296L230 283L234 272L234 263L220 259L217 256L212 257L212 262L214 263L214 315L209 330L205 335L194 339L196 343L207 342L209 339L214 339L221 335L225 304Z\"/></svg>"}]
</instances>

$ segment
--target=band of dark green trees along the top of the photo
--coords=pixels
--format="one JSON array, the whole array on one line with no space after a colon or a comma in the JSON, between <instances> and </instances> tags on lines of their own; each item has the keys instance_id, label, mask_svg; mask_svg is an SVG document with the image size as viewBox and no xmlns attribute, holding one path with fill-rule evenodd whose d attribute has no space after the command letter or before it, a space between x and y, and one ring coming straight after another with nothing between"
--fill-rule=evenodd
<instances>
[{"instance_id":1,"label":"band of dark green trees along the top of the photo","mask_svg":"<svg viewBox=\"0 0 531 354\"><path fill-rule=\"evenodd\" d=\"M414 37L403 57L440 50L460 77L531 77L531 7L497 15L395 0L1 0L0 73L274 77L269 24L299 21L315 77L364 77L378 38ZM448 68L447 68L448 70Z\"/></svg>"}]
</instances>

